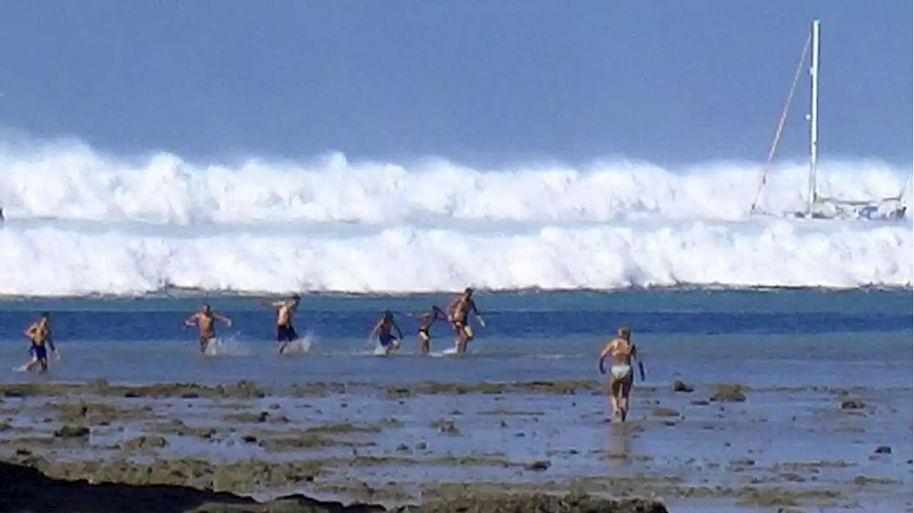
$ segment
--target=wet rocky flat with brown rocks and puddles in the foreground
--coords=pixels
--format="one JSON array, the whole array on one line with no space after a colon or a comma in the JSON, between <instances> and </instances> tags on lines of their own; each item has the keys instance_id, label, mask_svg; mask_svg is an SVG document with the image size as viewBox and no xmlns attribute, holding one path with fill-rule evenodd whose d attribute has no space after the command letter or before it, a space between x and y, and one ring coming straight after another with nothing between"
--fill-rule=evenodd
<instances>
[{"instance_id":1,"label":"wet rocky flat with brown rocks and puddles in the foreground","mask_svg":"<svg viewBox=\"0 0 914 513\"><path fill-rule=\"evenodd\" d=\"M9 384L0 459L5 475L113 483L115 496L198 494L156 511L340 510L267 503L290 494L354 510L914 511L910 392L637 387L629 421L612 424L596 381Z\"/></svg>"}]
</instances>

